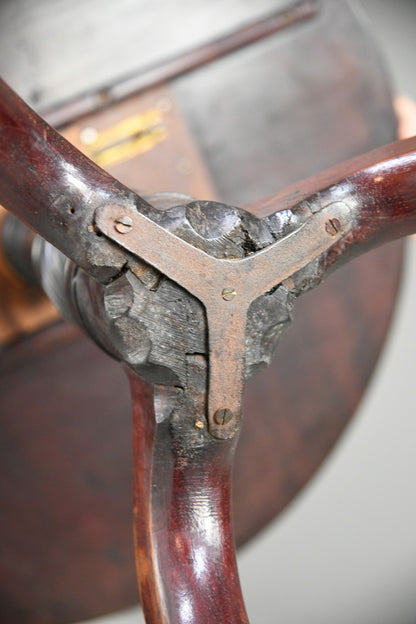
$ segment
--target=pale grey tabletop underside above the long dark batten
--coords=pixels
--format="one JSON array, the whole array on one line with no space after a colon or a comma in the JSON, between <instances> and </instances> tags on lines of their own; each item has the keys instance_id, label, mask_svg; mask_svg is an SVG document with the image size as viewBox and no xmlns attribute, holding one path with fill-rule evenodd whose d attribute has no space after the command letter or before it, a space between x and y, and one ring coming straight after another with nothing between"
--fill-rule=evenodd
<instances>
[{"instance_id":1,"label":"pale grey tabletop underside above the long dark batten","mask_svg":"<svg viewBox=\"0 0 416 624\"><path fill-rule=\"evenodd\" d=\"M0 74L26 101L44 110L287 5L287 0L194 0L190 10L187 0L2 2Z\"/></svg>"}]
</instances>

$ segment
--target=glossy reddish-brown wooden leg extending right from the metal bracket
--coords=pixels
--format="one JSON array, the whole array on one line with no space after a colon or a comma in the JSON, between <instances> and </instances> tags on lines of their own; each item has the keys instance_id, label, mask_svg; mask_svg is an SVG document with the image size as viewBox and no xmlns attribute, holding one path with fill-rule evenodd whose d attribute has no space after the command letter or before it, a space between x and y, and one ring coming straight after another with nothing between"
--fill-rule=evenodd
<instances>
[{"instance_id":1,"label":"glossy reddish-brown wooden leg extending right from the metal bracket","mask_svg":"<svg viewBox=\"0 0 416 624\"><path fill-rule=\"evenodd\" d=\"M307 201L312 210L345 201L354 225L328 253L325 266L416 230L416 137L396 141L303 180L247 208L257 215Z\"/></svg>"}]
</instances>

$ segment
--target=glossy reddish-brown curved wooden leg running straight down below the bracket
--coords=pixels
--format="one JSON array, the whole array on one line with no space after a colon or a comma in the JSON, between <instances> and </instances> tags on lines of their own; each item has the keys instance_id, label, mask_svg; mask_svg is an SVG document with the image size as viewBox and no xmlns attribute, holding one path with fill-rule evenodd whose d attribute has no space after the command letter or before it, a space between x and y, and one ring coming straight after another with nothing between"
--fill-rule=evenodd
<instances>
[{"instance_id":1,"label":"glossy reddish-brown curved wooden leg running straight down below the bracket","mask_svg":"<svg viewBox=\"0 0 416 624\"><path fill-rule=\"evenodd\" d=\"M230 507L236 438L217 440L207 432L203 367L199 373L201 388L192 392L153 388L128 373L135 552L148 624L248 622Z\"/></svg>"}]
</instances>

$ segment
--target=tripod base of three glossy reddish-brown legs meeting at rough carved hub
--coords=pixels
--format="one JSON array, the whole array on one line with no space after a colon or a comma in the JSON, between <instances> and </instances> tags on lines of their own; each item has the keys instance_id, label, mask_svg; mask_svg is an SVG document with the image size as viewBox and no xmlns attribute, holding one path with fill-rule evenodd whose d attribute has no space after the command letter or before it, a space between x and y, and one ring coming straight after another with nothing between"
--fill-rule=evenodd
<instances>
[{"instance_id":1,"label":"tripod base of three glossy reddish-brown legs meeting at rough carved hub","mask_svg":"<svg viewBox=\"0 0 416 624\"><path fill-rule=\"evenodd\" d=\"M0 200L75 263L51 262L40 245L36 274L105 350L156 384L129 372L147 621L248 622L230 510L244 380L270 360L296 296L415 231L416 139L252 205L258 219L204 201L157 210L2 83L0 121Z\"/></svg>"}]
</instances>

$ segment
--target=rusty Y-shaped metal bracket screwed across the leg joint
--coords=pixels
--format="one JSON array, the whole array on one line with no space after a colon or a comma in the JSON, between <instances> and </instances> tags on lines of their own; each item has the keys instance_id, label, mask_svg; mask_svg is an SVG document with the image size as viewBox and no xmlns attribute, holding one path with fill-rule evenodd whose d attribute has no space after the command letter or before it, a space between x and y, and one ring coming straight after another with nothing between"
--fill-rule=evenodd
<instances>
[{"instance_id":1,"label":"rusty Y-shaped metal bracket screwed across the leg joint","mask_svg":"<svg viewBox=\"0 0 416 624\"><path fill-rule=\"evenodd\" d=\"M197 297L209 334L210 433L231 438L239 429L250 304L318 258L351 227L343 202L323 208L298 230L243 259L214 258L160 227L134 207L110 204L95 213L96 227Z\"/></svg>"}]
</instances>

